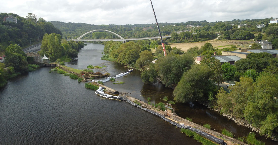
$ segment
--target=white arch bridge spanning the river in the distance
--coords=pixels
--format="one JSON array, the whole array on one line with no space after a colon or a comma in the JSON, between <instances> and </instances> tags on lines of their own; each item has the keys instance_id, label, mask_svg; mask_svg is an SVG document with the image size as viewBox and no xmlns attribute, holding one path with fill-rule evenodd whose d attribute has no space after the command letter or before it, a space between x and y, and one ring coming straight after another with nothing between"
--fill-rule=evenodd
<instances>
[{"instance_id":1,"label":"white arch bridge spanning the river in the distance","mask_svg":"<svg viewBox=\"0 0 278 145\"><path fill-rule=\"evenodd\" d=\"M95 31L106 31L106 32L110 32L116 36L118 36L120 39L81 39L82 37L84 37L85 35L91 33L91 32L95 32ZM171 37L170 35L168 36L162 36L162 38L169 38ZM132 40L147 40L147 39L160 39L160 36L156 36L156 37L143 37L143 38L129 38L129 39L124 39L123 37L121 37L120 35L114 33L114 32L111 32L109 30L103 30L103 29L99 29L99 30L92 30L92 31L89 31L83 35L81 35L80 37L78 37L77 39L67 39L67 41L70 41L70 40L74 40L76 42L79 42L79 41L82 41L82 42L96 42L96 41L123 41L123 42L126 42L126 41L132 41Z\"/></svg>"}]
</instances>

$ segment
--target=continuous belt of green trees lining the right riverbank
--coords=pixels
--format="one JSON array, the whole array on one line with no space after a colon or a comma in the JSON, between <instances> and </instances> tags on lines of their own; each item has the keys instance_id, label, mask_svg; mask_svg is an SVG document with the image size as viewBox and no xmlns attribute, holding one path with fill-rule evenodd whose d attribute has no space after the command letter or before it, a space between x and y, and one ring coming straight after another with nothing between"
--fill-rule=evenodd
<instances>
[{"instance_id":1,"label":"continuous belt of green trees lining the right riverbank","mask_svg":"<svg viewBox=\"0 0 278 145\"><path fill-rule=\"evenodd\" d=\"M144 43L107 42L105 56L130 67L143 68L141 78L145 83L155 83L159 78L166 87L175 88L175 102L208 102L213 108L221 109L222 113L249 121L260 128L261 135L276 136L278 105L275 94L278 90L274 86L278 83L277 58L267 53L254 53L237 61L235 65L221 65L219 60L210 58L210 51L214 48L206 43L200 49L194 48L207 55L200 65L196 65L193 59L196 53L191 51L193 48L182 55L167 50L167 56L163 56L157 53L162 52L159 46L155 53L149 53L148 47L139 45ZM148 53L143 55L144 51ZM155 64L149 63L154 58L157 58ZM230 93L214 85L224 80L237 81Z\"/></svg>"}]
</instances>

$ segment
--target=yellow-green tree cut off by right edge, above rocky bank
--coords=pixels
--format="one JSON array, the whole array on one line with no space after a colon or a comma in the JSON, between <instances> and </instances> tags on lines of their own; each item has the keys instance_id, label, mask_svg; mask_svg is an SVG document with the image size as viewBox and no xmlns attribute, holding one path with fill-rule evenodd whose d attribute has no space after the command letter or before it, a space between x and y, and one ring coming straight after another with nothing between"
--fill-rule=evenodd
<instances>
[{"instance_id":1,"label":"yellow-green tree cut off by right edge, above rocky bank","mask_svg":"<svg viewBox=\"0 0 278 145\"><path fill-rule=\"evenodd\" d=\"M254 93L245 107L244 117L261 134L271 135L278 131L277 93L278 80L273 75L262 73L255 83Z\"/></svg>"}]
</instances>

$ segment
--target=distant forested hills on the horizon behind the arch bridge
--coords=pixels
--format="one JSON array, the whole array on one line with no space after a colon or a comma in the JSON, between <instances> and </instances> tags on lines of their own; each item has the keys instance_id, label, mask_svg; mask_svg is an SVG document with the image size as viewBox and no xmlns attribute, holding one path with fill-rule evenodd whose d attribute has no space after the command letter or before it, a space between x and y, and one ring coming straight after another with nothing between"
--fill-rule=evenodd
<instances>
[{"instance_id":1,"label":"distant forested hills on the horizon behind the arch bridge","mask_svg":"<svg viewBox=\"0 0 278 145\"><path fill-rule=\"evenodd\" d=\"M254 38L254 35L251 33L265 32L270 19L273 18L245 20L234 19L232 21L225 22L207 22L205 20L188 21L181 23L159 23L159 26L162 35L172 35L171 39L168 39L168 42L171 43L211 40L216 38L216 33L224 34L225 31L227 31L227 33L225 33L225 37L222 36L220 39L249 40ZM74 39L86 32L97 29L110 30L116 34L119 34L123 38L159 36L156 24L92 25L86 23L65 23L58 21L51 21L51 23L62 31L64 39ZM244 26L238 28L237 26L240 24L244 24ZM257 28L257 24L264 24L266 27ZM143 30L143 28L146 29ZM183 32L183 34L174 34L175 32L181 30L187 30L190 33ZM246 37L241 37L242 35ZM93 33L92 35L88 34L85 37L86 39L103 39L111 38L111 34L109 35L108 32L99 32ZM112 37L115 38L115 36Z\"/></svg>"}]
</instances>

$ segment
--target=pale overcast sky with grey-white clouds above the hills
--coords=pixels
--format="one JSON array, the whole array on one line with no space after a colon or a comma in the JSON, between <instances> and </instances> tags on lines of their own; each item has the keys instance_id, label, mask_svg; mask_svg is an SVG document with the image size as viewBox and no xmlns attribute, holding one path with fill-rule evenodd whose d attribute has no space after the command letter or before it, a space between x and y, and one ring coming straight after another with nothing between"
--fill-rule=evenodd
<instances>
[{"instance_id":1,"label":"pale overcast sky with grey-white clouds above the hills","mask_svg":"<svg viewBox=\"0 0 278 145\"><path fill-rule=\"evenodd\" d=\"M278 18L278 0L152 0L158 22ZM1 0L0 12L87 24L155 23L150 0Z\"/></svg>"}]
</instances>

